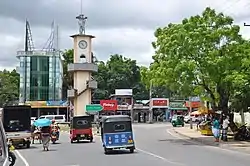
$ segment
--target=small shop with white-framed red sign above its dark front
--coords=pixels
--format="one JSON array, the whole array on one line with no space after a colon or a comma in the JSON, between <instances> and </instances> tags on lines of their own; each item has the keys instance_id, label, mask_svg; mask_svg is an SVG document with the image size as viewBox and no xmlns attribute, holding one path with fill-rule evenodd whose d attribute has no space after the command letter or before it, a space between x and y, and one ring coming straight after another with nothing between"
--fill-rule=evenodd
<instances>
[{"instance_id":1,"label":"small shop with white-framed red sign above its dark front","mask_svg":"<svg viewBox=\"0 0 250 166\"><path fill-rule=\"evenodd\" d=\"M168 98L152 98L150 100L150 107L153 112L153 121L165 121L168 106Z\"/></svg>"}]
</instances>

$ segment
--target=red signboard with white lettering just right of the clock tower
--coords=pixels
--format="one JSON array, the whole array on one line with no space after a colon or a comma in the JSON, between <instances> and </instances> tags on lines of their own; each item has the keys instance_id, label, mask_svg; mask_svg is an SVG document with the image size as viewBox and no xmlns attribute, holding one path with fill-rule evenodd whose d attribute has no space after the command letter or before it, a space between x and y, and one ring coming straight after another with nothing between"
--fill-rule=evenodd
<instances>
[{"instance_id":1,"label":"red signboard with white lettering just right of the clock tower","mask_svg":"<svg viewBox=\"0 0 250 166\"><path fill-rule=\"evenodd\" d=\"M103 110L99 113L100 115L109 116L117 114L117 100L101 100L100 105L103 107Z\"/></svg>"}]
</instances>

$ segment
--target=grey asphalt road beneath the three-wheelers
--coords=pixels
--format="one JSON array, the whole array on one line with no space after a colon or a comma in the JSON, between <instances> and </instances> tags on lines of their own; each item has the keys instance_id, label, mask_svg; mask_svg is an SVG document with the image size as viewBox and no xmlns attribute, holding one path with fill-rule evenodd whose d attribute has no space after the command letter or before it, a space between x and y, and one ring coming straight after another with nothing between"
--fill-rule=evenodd
<instances>
[{"instance_id":1,"label":"grey asphalt road beneath the three-wheelers","mask_svg":"<svg viewBox=\"0 0 250 166\"><path fill-rule=\"evenodd\" d=\"M68 134L60 143L43 152L37 144L31 149L18 150L26 165L18 158L17 166L248 166L250 155L185 140L171 133L168 124L136 124L134 134L137 150L134 154L105 155L100 138L94 143L71 144Z\"/></svg>"}]
</instances>

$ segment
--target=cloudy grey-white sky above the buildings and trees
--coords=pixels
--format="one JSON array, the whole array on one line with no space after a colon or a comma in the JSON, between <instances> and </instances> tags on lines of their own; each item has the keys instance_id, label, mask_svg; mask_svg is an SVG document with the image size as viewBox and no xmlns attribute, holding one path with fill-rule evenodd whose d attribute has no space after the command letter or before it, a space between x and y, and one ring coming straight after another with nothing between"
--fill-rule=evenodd
<instances>
[{"instance_id":1,"label":"cloudy grey-white sky above the buildings and trees","mask_svg":"<svg viewBox=\"0 0 250 166\"><path fill-rule=\"evenodd\" d=\"M169 23L200 14L206 7L232 16L250 37L249 0L82 0L82 12L88 17L86 34L94 35L93 52L106 61L111 54L152 62L154 31ZM25 20L28 19L36 49L43 48L53 20L59 25L59 48L73 47L70 35L78 33L75 17L81 13L81 0L1 0L0 70L18 65L16 52L24 49Z\"/></svg>"}]
</instances>

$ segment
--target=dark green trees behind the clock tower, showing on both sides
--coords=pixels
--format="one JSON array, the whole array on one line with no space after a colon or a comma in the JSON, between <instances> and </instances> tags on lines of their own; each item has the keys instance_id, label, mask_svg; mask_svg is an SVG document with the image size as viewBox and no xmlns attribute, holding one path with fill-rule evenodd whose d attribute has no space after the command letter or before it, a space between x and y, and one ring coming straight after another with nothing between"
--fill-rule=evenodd
<instances>
[{"instance_id":1,"label":"dark green trees behind the clock tower, showing on both sides","mask_svg":"<svg viewBox=\"0 0 250 166\"><path fill-rule=\"evenodd\" d=\"M73 49L66 50L64 56L64 80L63 91L64 97L67 96L67 89L73 86L73 75L68 73L67 66L73 63ZM105 99L113 94L115 89L130 89L134 91L135 98L147 99L148 91L141 82L140 67L137 66L135 60L125 58L122 55L111 55L106 63L99 61L98 73L93 73L97 80L98 89L94 90L94 99Z\"/></svg>"}]
</instances>

